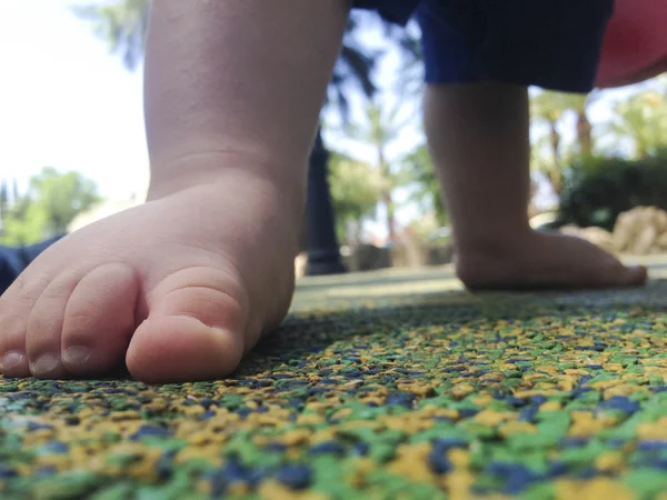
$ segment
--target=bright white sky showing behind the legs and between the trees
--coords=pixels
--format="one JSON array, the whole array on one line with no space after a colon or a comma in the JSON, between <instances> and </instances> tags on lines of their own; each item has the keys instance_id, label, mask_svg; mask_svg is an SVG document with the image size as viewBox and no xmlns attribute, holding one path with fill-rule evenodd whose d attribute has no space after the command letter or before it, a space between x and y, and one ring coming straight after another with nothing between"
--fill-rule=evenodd
<instances>
[{"instance_id":1,"label":"bright white sky showing behind the legs and between the trees","mask_svg":"<svg viewBox=\"0 0 667 500\"><path fill-rule=\"evenodd\" d=\"M122 200L141 196L148 183L141 71L129 72L90 23L72 13L72 6L91 1L0 0L0 177L26 186L44 166L77 170L93 179L104 197ZM377 33L366 39L381 43ZM392 80L396 62L385 61L381 81ZM627 92L607 92L591 108L593 121L608 118L611 103ZM418 123L418 103L407 106ZM406 130L390 153L418 141L415 130ZM564 130L567 136L573 128ZM374 159L368 148L339 143ZM406 210L400 219L414 214Z\"/></svg>"}]
</instances>

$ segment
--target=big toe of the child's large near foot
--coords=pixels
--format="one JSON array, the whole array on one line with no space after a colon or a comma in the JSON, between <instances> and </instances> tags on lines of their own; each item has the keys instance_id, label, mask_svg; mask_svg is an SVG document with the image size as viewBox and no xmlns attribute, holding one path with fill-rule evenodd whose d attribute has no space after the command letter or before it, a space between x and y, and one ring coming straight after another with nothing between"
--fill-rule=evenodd
<instances>
[{"instance_id":1,"label":"big toe of the child's large near foot","mask_svg":"<svg viewBox=\"0 0 667 500\"><path fill-rule=\"evenodd\" d=\"M247 303L230 273L190 268L172 274L149 297L149 316L126 357L130 373L147 383L229 374L247 346Z\"/></svg>"}]
</instances>

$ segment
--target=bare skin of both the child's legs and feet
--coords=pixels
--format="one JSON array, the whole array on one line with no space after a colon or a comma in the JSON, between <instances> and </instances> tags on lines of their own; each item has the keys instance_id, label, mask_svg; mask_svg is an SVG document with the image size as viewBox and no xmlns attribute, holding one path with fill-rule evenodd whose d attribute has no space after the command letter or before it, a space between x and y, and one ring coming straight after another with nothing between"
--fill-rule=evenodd
<instances>
[{"instance_id":1,"label":"bare skin of both the child's legs and feet","mask_svg":"<svg viewBox=\"0 0 667 500\"><path fill-rule=\"evenodd\" d=\"M148 383L225 377L285 318L307 158L346 0L151 12L145 204L53 244L0 297L0 372ZM471 290L637 286L583 240L530 230L526 88L431 86L429 148Z\"/></svg>"}]
</instances>

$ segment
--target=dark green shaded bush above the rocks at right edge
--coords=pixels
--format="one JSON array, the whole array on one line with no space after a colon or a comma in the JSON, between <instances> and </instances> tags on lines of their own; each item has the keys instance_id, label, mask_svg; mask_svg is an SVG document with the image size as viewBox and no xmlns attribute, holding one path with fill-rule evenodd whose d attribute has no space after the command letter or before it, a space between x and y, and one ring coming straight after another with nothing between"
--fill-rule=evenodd
<instances>
[{"instance_id":1,"label":"dark green shaded bush above the rocks at right edge","mask_svg":"<svg viewBox=\"0 0 667 500\"><path fill-rule=\"evenodd\" d=\"M640 160L588 158L573 164L560 198L559 223L613 230L634 207L667 210L667 154Z\"/></svg>"}]
</instances>

